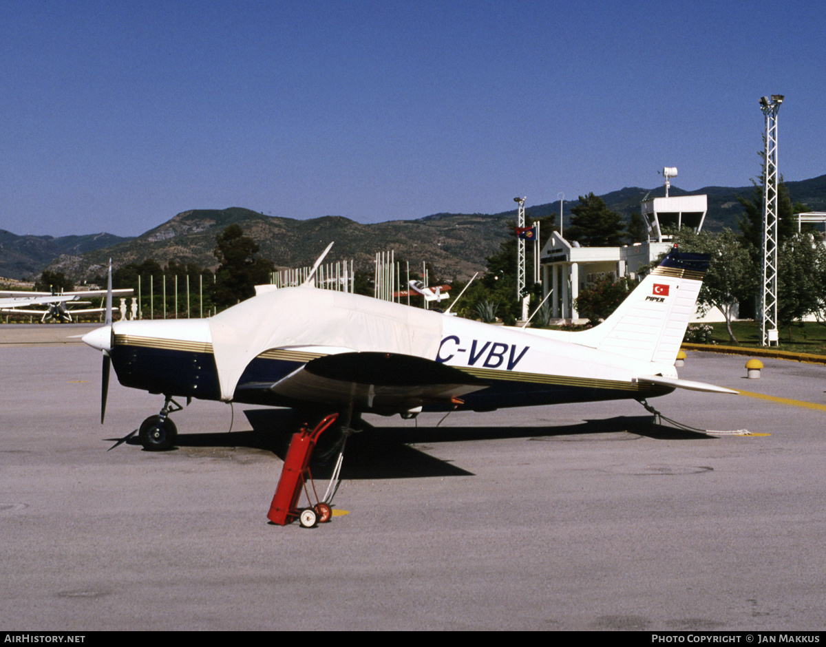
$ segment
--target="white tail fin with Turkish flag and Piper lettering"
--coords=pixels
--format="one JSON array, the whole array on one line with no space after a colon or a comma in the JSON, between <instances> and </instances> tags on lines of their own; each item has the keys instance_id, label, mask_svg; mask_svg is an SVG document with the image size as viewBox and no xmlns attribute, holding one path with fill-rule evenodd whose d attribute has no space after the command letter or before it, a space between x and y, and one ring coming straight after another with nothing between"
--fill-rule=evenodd
<instances>
[{"instance_id":1,"label":"white tail fin with Turkish flag and Piper lettering","mask_svg":"<svg viewBox=\"0 0 826 647\"><path fill-rule=\"evenodd\" d=\"M709 257L675 247L599 326L577 343L635 359L672 364L695 312Z\"/></svg>"}]
</instances>

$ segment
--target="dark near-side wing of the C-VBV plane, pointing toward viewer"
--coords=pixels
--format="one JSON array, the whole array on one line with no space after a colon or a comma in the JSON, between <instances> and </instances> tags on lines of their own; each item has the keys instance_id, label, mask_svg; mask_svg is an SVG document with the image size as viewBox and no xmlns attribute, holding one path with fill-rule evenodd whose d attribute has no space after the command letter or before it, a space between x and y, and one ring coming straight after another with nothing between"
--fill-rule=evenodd
<instances>
[{"instance_id":1,"label":"dark near-side wing of the C-VBV plane, pointing toward viewer","mask_svg":"<svg viewBox=\"0 0 826 647\"><path fill-rule=\"evenodd\" d=\"M381 412L407 412L425 404L461 404L466 393L487 383L430 359L397 353L324 355L275 383L246 383L240 389L268 389L290 400Z\"/></svg>"}]
</instances>

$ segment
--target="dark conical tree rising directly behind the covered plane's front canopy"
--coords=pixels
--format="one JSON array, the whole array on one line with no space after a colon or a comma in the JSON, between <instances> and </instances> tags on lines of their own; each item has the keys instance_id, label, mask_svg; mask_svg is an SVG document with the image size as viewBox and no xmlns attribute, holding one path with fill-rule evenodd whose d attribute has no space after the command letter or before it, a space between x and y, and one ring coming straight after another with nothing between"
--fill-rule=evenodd
<instances>
[{"instance_id":1,"label":"dark conical tree rising directly behind the covered plane's front canopy","mask_svg":"<svg viewBox=\"0 0 826 647\"><path fill-rule=\"evenodd\" d=\"M216 235L214 254L220 265L216 270L213 301L217 306L234 306L254 297L256 285L269 283L275 266L268 259L256 258L258 251L259 246L244 235L240 225L227 226Z\"/></svg>"}]
</instances>

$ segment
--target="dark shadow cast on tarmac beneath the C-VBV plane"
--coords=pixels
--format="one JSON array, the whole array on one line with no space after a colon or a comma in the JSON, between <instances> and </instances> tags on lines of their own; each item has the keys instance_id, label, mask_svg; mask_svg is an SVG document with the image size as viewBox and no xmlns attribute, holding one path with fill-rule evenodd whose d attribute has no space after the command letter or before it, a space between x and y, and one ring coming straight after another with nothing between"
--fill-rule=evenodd
<instances>
[{"instance_id":1,"label":"dark shadow cast on tarmac beneath the C-VBV plane","mask_svg":"<svg viewBox=\"0 0 826 647\"><path fill-rule=\"evenodd\" d=\"M181 434L176 439L176 446L245 447L271 451L283 460L287 455L292 435L297 429L294 412L283 409L250 409L244 411L244 415L253 427L251 431ZM434 458L411 445L507 438L544 439L617 432L667 440L700 440L711 437L657 424L653 416L648 415L615 416L560 426L382 427L358 421L356 428L360 431L349 435L346 440L344 464L341 469L341 478L344 479L473 475L457 465ZM342 440L340 429L335 427L320 436L310 464L311 473L315 478L330 478ZM139 444L136 438L129 439L127 443Z\"/></svg>"}]
</instances>

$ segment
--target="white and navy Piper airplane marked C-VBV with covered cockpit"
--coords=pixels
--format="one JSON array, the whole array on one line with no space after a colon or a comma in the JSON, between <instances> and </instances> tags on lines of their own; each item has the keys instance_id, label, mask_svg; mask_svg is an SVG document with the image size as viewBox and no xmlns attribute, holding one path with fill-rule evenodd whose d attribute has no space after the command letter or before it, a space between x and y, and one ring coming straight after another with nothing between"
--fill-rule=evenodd
<instances>
[{"instance_id":1,"label":"white and navy Piper airplane marked C-VBV with covered cockpit","mask_svg":"<svg viewBox=\"0 0 826 647\"><path fill-rule=\"evenodd\" d=\"M164 395L159 414L140 426L147 450L174 443L169 414L181 407L173 397L409 418L644 403L675 388L736 393L680 379L674 368L707 267L707 256L673 249L611 316L582 332L490 326L313 288L311 274L297 288L259 286L256 296L208 319L108 317L83 341L103 353L101 422L110 360L124 386Z\"/></svg>"}]
</instances>

